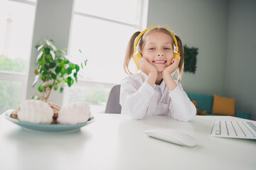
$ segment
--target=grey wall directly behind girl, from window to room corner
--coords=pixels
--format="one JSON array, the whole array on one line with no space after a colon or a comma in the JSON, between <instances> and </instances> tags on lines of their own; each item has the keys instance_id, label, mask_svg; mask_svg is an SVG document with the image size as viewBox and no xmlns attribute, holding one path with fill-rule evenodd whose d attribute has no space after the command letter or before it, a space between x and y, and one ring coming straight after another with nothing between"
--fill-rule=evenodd
<instances>
[{"instance_id":1,"label":"grey wall directly behind girl, from window to room corner","mask_svg":"<svg viewBox=\"0 0 256 170\"><path fill-rule=\"evenodd\" d=\"M227 9L227 0L149 1L148 26L171 27L183 44L198 47L196 74L181 81L188 92L223 95Z\"/></svg>"}]
</instances>

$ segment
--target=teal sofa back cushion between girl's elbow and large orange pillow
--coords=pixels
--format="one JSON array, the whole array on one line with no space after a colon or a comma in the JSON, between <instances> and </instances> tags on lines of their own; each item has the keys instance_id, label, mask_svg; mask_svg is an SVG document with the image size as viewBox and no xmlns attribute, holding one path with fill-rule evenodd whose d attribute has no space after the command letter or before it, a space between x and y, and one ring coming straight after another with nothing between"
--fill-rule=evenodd
<instances>
[{"instance_id":1,"label":"teal sofa back cushion between girl's elbow and large orange pillow","mask_svg":"<svg viewBox=\"0 0 256 170\"><path fill-rule=\"evenodd\" d=\"M197 101L198 102L198 109L200 111L207 111L207 113L211 113L212 107L213 107L213 96L205 95L205 94L193 94L193 93L187 93L188 98L191 99L191 101Z\"/></svg>"}]
</instances>

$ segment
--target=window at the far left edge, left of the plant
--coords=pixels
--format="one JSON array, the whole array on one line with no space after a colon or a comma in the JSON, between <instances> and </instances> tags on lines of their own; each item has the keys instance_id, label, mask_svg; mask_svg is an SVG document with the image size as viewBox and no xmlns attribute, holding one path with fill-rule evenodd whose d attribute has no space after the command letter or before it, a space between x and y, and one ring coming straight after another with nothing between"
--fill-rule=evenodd
<instances>
[{"instance_id":1,"label":"window at the far left edge, left of the plant","mask_svg":"<svg viewBox=\"0 0 256 170\"><path fill-rule=\"evenodd\" d=\"M26 97L36 0L0 1L0 113Z\"/></svg>"}]
</instances>

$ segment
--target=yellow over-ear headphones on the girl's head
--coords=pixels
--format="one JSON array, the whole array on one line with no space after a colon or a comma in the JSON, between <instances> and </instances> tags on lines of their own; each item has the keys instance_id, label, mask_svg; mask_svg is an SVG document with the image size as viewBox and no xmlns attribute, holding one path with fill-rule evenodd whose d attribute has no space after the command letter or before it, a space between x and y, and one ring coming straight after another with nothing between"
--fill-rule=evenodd
<instances>
[{"instance_id":1,"label":"yellow over-ear headphones on the girl's head","mask_svg":"<svg viewBox=\"0 0 256 170\"><path fill-rule=\"evenodd\" d=\"M146 28L141 33L139 33L139 35L137 36L137 38L134 41L134 53L132 54L132 57L133 57L133 60L136 64L136 66L137 66L137 69L139 69L139 58L142 57L142 55L139 52L136 54L139 39L142 38L142 35L144 35L144 33L146 33L146 31L151 30L153 28L164 28L164 27L152 26L152 27ZM164 29L168 30L167 28L164 28ZM177 43L177 40L174 36L174 33L172 33L171 30L168 30L168 31L169 31L169 33L171 33L172 38L174 38L174 45L176 47L175 52L174 52L174 58L176 58L178 60L181 60L181 57L178 53L178 43Z\"/></svg>"}]
</instances>

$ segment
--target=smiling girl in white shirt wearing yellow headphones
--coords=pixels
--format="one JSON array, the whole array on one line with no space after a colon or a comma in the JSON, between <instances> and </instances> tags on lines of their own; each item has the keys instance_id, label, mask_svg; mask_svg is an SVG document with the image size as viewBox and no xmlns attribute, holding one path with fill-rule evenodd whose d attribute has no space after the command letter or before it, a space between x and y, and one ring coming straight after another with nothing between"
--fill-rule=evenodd
<instances>
[{"instance_id":1,"label":"smiling girl in white shirt wearing yellow headphones","mask_svg":"<svg viewBox=\"0 0 256 170\"><path fill-rule=\"evenodd\" d=\"M137 44L139 59L136 54ZM141 71L137 74L132 74L128 69L132 57L134 62L139 61L137 67ZM191 120L196 115L196 107L179 82L183 60L181 40L170 30L151 27L142 33L134 33L124 59L124 71L132 75L126 77L121 84L121 113L134 119L142 119L145 115L171 115L176 120ZM178 81L171 77L176 70Z\"/></svg>"}]
</instances>

